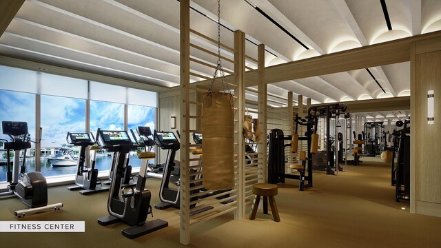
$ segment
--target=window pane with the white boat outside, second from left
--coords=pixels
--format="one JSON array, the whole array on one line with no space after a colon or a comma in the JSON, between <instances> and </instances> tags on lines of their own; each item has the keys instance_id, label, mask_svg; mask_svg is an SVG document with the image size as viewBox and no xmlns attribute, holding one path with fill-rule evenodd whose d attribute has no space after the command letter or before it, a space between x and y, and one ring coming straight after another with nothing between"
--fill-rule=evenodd
<instances>
[{"instance_id":1,"label":"window pane with the white boat outside, second from left","mask_svg":"<svg viewBox=\"0 0 441 248\"><path fill-rule=\"evenodd\" d=\"M39 78L41 173L46 177L75 174L80 147L69 144L66 136L68 132L86 131L88 81L47 73L39 74Z\"/></svg>"}]
</instances>

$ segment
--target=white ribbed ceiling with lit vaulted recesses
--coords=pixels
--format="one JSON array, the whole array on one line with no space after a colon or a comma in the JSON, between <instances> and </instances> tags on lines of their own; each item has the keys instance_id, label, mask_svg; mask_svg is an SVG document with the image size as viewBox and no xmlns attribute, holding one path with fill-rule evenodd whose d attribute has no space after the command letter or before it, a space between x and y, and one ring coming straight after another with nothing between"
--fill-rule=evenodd
<instances>
[{"instance_id":1,"label":"white ribbed ceiling with lit vaulted recesses","mask_svg":"<svg viewBox=\"0 0 441 248\"><path fill-rule=\"evenodd\" d=\"M441 30L439 0L385 3L392 30L380 0L222 0L220 39L233 47L234 31L242 30L247 56L256 59L263 43L269 66ZM194 0L190 6L190 27L217 40L217 1ZM179 9L176 0L27 0L0 37L0 54L172 87L179 83ZM216 43L195 34L190 39L216 52ZM229 50L221 53L233 58ZM191 56L216 65L212 54L191 48ZM256 68L252 59L246 64ZM214 72L191 66L201 75L192 81ZM223 67L232 71L234 64L223 60ZM409 95L409 62L369 70L381 87L362 69L275 83L268 91L285 98L292 91L305 103Z\"/></svg>"}]
</instances>

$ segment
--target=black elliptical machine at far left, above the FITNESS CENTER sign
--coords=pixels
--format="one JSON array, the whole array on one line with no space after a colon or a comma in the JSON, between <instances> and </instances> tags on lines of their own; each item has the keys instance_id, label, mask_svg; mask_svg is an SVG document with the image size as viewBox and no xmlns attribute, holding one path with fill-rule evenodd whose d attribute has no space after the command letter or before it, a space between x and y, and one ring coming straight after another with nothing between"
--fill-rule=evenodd
<instances>
[{"instance_id":1,"label":"black elliptical machine at far left, above the FITNESS CENTER sign","mask_svg":"<svg viewBox=\"0 0 441 248\"><path fill-rule=\"evenodd\" d=\"M26 214L34 214L51 209L58 210L63 207L63 203L48 205L48 183L41 172L26 172L25 161L26 150L30 148L30 143L40 143L40 141L30 141L28 133L28 123L22 121L2 121L1 127L3 134L10 136L11 141L6 141L4 147L7 155L7 180L8 192L1 193L0 196L17 195L21 202L30 207L14 211L15 216L24 217ZM41 137L41 128L40 128ZM14 164L11 171L10 150L14 150ZM23 163L19 171L20 152L24 150Z\"/></svg>"}]
</instances>

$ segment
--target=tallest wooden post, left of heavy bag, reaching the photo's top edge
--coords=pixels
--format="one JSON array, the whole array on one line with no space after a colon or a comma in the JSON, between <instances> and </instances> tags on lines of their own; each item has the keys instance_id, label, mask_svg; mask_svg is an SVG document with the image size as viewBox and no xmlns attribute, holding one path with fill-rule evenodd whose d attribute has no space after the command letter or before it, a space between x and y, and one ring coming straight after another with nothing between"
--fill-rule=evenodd
<instances>
[{"instance_id":1,"label":"tallest wooden post, left of heavy bag, reaching the photo's top edge","mask_svg":"<svg viewBox=\"0 0 441 248\"><path fill-rule=\"evenodd\" d=\"M181 167L180 167L180 242L188 245L190 242L190 217L189 217L189 83L190 83L190 2L181 0L181 25L180 25L180 74L181 74Z\"/></svg>"}]
</instances>

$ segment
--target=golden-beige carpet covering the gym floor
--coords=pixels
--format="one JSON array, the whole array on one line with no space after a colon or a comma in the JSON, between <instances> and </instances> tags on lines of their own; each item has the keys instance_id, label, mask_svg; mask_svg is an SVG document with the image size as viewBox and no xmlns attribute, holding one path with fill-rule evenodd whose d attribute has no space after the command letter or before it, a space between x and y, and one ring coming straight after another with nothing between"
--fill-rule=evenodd
<instances>
[{"instance_id":1,"label":"golden-beige carpet covering the gym floor","mask_svg":"<svg viewBox=\"0 0 441 248\"><path fill-rule=\"evenodd\" d=\"M158 203L159 180L147 185L152 203ZM315 172L314 187L305 192L297 185L296 180L279 185L280 223L262 213L256 220L227 214L193 225L187 247L440 247L441 218L409 214L409 203L396 203L390 165L365 161L338 176ZM154 209L154 218L167 220L169 227L130 240L121 235L127 225L96 223L107 215L106 192L81 196L52 187L49 193L50 203L65 207L23 220L84 220L85 233L0 233L2 247L185 247L179 243L178 209ZM0 207L0 220L17 220L14 210L23 209L18 198L0 199Z\"/></svg>"}]
</instances>

